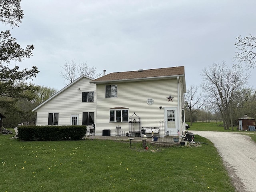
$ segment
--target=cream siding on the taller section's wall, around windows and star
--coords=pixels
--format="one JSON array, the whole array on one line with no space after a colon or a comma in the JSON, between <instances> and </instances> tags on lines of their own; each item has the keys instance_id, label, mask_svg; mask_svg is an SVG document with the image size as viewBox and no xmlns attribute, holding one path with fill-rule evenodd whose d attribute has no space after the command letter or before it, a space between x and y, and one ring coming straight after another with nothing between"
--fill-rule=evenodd
<instances>
[{"instance_id":1,"label":"cream siding on the taller section's wall, around windows and star","mask_svg":"<svg viewBox=\"0 0 256 192\"><path fill-rule=\"evenodd\" d=\"M125 82L119 83L118 98L105 98L105 85L97 85L97 118L96 134L102 134L102 129L110 129L111 135L114 135L116 129L115 122L109 122L110 108L128 108L129 116L134 112L141 118L141 127L143 126L159 126L159 122L164 120L164 110L162 107L178 106L177 79L173 80L155 80L141 82ZM169 101L167 97L173 97L173 101ZM152 98L154 103L147 104L148 98ZM120 122L122 130L128 132L128 122ZM98 129L101 128L101 129Z\"/></svg>"}]
</instances>

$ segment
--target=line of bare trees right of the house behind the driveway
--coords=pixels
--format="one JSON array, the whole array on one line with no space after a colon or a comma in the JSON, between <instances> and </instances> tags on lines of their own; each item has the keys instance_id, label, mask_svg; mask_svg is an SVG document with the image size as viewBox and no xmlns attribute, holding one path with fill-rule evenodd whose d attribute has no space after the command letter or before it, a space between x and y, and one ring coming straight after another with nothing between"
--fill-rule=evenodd
<instances>
[{"instance_id":1,"label":"line of bare trees right of the house behind the driveway","mask_svg":"<svg viewBox=\"0 0 256 192\"><path fill-rule=\"evenodd\" d=\"M214 63L201 72L203 83L189 86L184 94L186 120L221 120L225 130L234 130L238 118L248 115L256 118L256 89L246 87L248 74L237 65L229 67L226 62Z\"/></svg>"}]
</instances>

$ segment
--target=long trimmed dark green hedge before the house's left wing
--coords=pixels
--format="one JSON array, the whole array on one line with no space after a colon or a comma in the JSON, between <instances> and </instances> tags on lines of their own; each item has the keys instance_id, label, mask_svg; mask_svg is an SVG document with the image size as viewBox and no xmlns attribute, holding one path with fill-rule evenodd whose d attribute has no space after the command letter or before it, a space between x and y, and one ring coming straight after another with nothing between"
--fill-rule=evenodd
<instances>
[{"instance_id":1,"label":"long trimmed dark green hedge before the house's left wing","mask_svg":"<svg viewBox=\"0 0 256 192\"><path fill-rule=\"evenodd\" d=\"M86 126L19 126L20 140L81 140Z\"/></svg>"}]
</instances>

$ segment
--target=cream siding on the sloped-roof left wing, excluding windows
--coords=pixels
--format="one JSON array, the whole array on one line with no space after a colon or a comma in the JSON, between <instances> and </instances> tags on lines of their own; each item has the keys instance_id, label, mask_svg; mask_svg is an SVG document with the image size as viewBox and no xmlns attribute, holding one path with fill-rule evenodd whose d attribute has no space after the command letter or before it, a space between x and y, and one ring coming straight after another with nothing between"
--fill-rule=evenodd
<instances>
[{"instance_id":1,"label":"cream siding on the sloped-roof left wing, excluding windows","mask_svg":"<svg viewBox=\"0 0 256 192\"><path fill-rule=\"evenodd\" d=\"M36 110L36 125L47 125L48 114L52 111L59 113L58 125L70 125L70 117L77 114L82 117L83 112L96 114L96 84L90 84L90 79L82 78L58 96ZM94 92L94 102L82 102L82 92ZM96 118L96 117L94 117ZM82 125L82 118L78 118L78 125Z\"/></svg>"}]
</instances>

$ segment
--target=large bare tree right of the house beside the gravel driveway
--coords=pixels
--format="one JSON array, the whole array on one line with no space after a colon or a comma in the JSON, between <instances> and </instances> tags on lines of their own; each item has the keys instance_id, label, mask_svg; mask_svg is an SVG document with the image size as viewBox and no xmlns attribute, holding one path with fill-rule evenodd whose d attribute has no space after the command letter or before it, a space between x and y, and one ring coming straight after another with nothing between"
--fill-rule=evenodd
<instances>
[{"instance_id":1,"label":"large bare tree right of the house beside the gravel driveway","mask_svg":"<svg viewBox=\"0 0 256 192\"><path fill-rule=\"evenodd\" d=\"M235 66L229 68L225 62L214 63L208 69L202 70L201 74L204 82L202 88L218 106L222 114L224 129L229 129L230 122L232 126L234 92L244 86L248 77L243 74L241 68L239 70Z\"/></svg>"}]
</instances>

